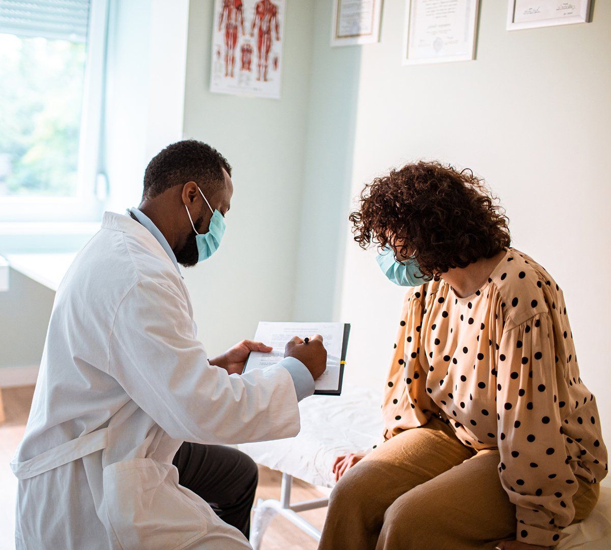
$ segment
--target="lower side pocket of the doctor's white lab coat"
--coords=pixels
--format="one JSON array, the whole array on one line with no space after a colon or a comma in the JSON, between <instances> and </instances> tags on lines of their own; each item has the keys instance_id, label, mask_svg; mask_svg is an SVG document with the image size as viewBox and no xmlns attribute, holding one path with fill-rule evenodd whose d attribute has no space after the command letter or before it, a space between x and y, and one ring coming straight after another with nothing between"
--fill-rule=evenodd
<instances>
[{"instance_id":1,"label":"lower side pocket of the doctor's white lab coat","mask_svg":"<svg viewBox=\"0 0 611 550\"><path fill-rule=\"evenodd\" d=\"M207 532L205 513L178 487L171 464L134 458L106 466L104 499L124 550L178 550Z\"/></svg>"}]
</instances>

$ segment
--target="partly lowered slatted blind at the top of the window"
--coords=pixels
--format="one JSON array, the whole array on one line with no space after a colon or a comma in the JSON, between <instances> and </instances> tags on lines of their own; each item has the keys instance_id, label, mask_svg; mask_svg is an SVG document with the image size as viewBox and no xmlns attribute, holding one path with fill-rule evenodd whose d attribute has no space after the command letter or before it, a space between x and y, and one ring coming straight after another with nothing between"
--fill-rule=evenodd
<instances>
[{"instance_id":1,"label":"partly lowered slatted blind at the top of the window","mask_svg":"<svg viewBox=\"0 0 611 550\"><path fill-rule=\"evenodd\" d=\"M86 42L91 0L0 0L0 32Z\"/></svg>"}]
</instances>

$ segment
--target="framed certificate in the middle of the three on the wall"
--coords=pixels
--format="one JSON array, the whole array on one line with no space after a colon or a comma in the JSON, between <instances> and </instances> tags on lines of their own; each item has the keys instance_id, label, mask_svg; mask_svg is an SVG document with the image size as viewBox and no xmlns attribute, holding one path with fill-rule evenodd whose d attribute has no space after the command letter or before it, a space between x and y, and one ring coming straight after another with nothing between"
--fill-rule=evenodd
<instances>
[{"instance_id":1,"label":"framed certificate in the middle of the three on the wall","mask_svg":"<svg viewBox=\"0 0 611 550\"><path fill-rule=\"evenodd\" d=\"M475 59L479 0L410 0L403 64Z\"/></svg>"}]
</instances>

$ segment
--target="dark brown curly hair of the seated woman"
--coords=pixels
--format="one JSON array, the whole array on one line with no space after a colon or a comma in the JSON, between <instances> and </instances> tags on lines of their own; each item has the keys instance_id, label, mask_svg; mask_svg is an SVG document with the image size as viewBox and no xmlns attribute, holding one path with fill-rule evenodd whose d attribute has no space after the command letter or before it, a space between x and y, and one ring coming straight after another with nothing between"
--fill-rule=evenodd
<instances>
[{"instance_id":1,"label":"dark brown curly hair of the seated woman","mask_svg":"<svg viewBox=\"0 0 611 550\"><path fill-rule=\"evenodd\" d=\"M406 164L375 178L349 220L361 248L392 246L398 259L414 257L427 279L511 244L505 211L483 180L439 162Z\"/></svg>"}]
</instances>

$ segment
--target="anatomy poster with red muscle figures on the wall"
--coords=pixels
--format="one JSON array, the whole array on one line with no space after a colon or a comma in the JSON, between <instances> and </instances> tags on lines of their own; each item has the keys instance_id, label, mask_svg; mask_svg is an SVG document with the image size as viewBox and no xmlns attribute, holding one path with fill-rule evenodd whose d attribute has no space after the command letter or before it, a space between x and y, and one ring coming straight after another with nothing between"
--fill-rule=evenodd
<instances>
[{"instance_id":1,"label":"anatomy poster with red muscle figures on the wall","mask_svg":"<svg viewBox=\"0 0 611 550\"><path fill-rule=\"evenodd\" d=\"M280 98L286 0L214 0L210 91Z\"/></svg>"}]
</instances>

